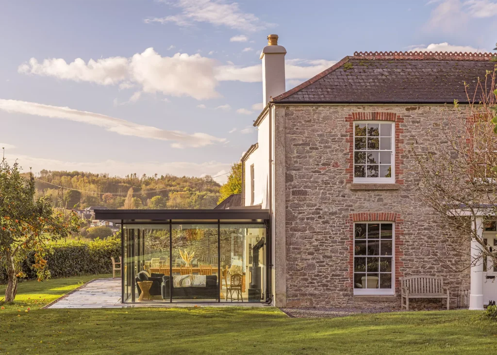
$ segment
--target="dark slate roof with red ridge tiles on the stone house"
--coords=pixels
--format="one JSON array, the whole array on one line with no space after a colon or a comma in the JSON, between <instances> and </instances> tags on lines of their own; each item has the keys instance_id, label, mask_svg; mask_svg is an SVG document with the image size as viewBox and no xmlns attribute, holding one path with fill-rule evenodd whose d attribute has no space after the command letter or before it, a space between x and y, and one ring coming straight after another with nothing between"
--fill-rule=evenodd
<instances>
[{"instance_id":1,"label":"dark slate roof with red ridge tiles on the stone house","mask_svg":"<svg viewBox=\"0 0 497 355\"><path fill-rule=\"evenodd\" d=\"M495 53L356 52L273 102L467 103L464 83L473 96L496 61Z\"/></svg>"}]
</instances>

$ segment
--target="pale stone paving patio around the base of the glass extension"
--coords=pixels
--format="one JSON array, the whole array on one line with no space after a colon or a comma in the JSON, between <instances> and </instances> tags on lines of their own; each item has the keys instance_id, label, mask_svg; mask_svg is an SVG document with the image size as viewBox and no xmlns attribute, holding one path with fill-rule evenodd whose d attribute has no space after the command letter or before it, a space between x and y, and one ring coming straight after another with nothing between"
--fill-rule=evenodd
<instances>
[{"instance_id":1,"label":"pale stone paving patio around the base of the glass extension","mask_svg":"<svg viewBox=\"0 0 497 355\"><path fill-rule=\"evenodd\" d=\"M262 307L261 303L201 303L209 307L228 307L230 305L242 307ZM121 279L96 279L92 280L73 292L59 298L45 308L122 308L122 307L194 307L193 302L166 303L166 302L143 302L143 303L121 303Z\"/></svg>"}]
</instances>

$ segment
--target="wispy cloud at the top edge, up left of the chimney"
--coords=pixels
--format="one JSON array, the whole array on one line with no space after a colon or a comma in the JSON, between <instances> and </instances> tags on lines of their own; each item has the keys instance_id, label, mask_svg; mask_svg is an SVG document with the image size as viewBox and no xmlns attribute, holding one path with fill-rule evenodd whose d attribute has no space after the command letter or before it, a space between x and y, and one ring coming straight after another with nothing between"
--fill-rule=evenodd
<instances>
[{"instance_id":1,"label":"wispy cloud at the top edge, up left of the chimney","mask_svg":"<svg viewBox=\"0 0 497 355\"><path fill-rule=\"evenodd\" d=\"M191 26L193 22L207 22L214 26L225 26L241 31L257 31L271 24L265 23L254 14L244 12L237 2L223 0L171 0L168 4L181 9L180 13L166 17L145 19L145 23L173 22L178 26Z\"/></svg>"}]
</instances>

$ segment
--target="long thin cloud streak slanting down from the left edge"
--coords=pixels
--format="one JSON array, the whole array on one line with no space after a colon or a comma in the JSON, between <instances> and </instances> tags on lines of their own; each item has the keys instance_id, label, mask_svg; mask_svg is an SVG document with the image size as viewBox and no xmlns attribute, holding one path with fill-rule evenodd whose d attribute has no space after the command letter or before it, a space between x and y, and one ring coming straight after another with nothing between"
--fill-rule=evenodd
<instances>
[{"instance_id":1,"label":"long thin cloud streak slanting down from the left edge","mask_svg":"<svg viewBox=\"0 0 497 355\"><path fill-rule=\"evenodd\" d=\"M9 113L20 113L85 123L104 128L109 132L114 132L123 136L172 141L174 142L171 143L171 146L173 147L201 147L226 141L224 138L213 137L205 133L187 134L180 131L167 131L98 113L73 110L69 107L43 105L34 102L0 99L0 110Z\"/></svg>"}]
</instances>

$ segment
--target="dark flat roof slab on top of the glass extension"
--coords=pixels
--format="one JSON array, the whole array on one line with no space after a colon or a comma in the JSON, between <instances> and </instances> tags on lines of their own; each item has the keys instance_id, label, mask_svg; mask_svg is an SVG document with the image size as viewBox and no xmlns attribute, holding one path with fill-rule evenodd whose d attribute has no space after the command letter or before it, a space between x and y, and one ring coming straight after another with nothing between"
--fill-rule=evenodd
<instances>
[{"instance_id":1,"label":"dark flat roof slab on top of the glass extension","mask_svg":"<svg viewBox=\"0 0 497 355\"><path fill-rule=\"evenodd\" d=\"M147 222L264 222L269 219L269 210L228 209L228 210L95 210L95 219L114 223Z\"/></svg>"}]
</instances>

